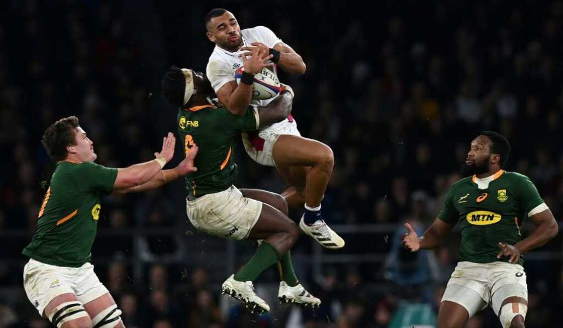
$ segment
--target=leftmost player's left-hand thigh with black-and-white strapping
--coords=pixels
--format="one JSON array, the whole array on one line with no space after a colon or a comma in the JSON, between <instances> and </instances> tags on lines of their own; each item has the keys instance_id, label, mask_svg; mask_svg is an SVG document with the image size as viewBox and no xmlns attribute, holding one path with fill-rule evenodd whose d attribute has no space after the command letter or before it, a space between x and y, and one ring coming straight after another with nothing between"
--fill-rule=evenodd
<instances>
[{"instance_id":1,"label":"leftmost player's left-hand thigh with black-and-white strapping","mask_svg":"<svg viewBox=\"0 0 563 328\"><path fill-rule=\"evenodd\" d=\"M53 298L45 307L44 314L59 328L92 327L92 321L84 305L72 292Z\"/></svg>"}]
</instances>

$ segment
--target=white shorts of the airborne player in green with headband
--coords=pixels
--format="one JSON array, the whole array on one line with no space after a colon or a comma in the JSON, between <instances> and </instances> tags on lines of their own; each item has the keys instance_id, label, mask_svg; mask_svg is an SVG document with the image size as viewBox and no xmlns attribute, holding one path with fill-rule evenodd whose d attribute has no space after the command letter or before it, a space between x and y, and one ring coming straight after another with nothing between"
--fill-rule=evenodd
<instances>
[{"instance_id":1,"label":"white shorts of the airborne player in green with headband","mask_svg":"<svg viewBox=\"0 0 563 328\"><path fill-rule=\"evenodd\" d=\"M222 238L247 238L261 212L262 202L243 197L234 185L193 201L186 199L186 213L191 224L196 229Z\"/></svg>"}]
</instances>

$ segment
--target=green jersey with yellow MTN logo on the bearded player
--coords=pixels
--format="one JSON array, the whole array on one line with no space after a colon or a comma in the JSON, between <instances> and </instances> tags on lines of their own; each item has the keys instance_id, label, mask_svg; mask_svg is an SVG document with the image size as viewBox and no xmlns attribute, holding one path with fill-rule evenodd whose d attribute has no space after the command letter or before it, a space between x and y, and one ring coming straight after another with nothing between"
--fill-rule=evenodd
<instances>
[{"instance_id":1,"label":"green jersey with yellow MTN logo on the bearded player","mask_svg":"<svg viewBox=\"0 0 563 328\"><path fill-rule=\"evenodd\" d=\"M475 176L455 182L438 214L446 223L461 225L461 261L508 261L507 256L497 259L498 243L515 245L522 240L522 221L543 203L527 176L501 170L493 178L486 189L477 187ZM518 264L523 263L520 256Z\"/></svg>"}]
</instances>

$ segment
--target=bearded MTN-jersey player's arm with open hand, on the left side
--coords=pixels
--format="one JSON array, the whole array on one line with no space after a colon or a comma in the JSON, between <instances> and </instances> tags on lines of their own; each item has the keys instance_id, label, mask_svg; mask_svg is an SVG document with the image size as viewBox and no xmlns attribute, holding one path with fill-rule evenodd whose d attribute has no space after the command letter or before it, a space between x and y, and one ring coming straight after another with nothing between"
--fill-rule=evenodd
<instances>
[{"instance_id":1,"label":"bearded MTN-jersey player's arm with open hand, on the left side","mask_svg":"<svg viewBox=\"0 0 563 328\"><path fill-rule=\"evenodd\" d=\"M426 229L422 237L418 237L410 224L405 223L405 227L408 232L403 234L403 246L415 252L419 249L432 250L440 246L445 238L448 237L448 234L452 232L454 226L445 223L440 218L436 218L430 228Z\"/></svg>"}]
</instances>

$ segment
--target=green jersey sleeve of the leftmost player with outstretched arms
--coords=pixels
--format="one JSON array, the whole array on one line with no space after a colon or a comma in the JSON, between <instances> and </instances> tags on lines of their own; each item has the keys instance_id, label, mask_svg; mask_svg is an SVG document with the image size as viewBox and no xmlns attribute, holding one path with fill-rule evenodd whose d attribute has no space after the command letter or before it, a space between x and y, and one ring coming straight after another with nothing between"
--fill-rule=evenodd
<instances>
[{"instance_id":1,"label":"green jersey sleeve of the leftmost player with outstretched arms","mask_svg":"<svg viewBox=\"0 0 563 328\"><path fill-rule=\"evenodd\" d=\"M94 162L83 162L77 167L77 179L80 179L80 185L90 192L111 193L115 178L117 178L117 169Z\"/></svg>"}]
</instances>

